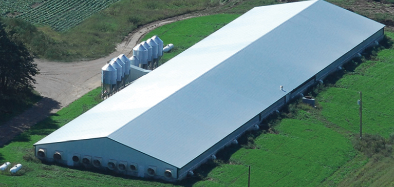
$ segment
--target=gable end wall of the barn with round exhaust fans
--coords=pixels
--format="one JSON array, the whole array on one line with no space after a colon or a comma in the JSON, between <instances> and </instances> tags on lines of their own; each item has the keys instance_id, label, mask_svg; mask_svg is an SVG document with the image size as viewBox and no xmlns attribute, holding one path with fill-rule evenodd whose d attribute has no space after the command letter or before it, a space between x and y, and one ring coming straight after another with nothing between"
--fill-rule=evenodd
<instances>
[{"instance_id":1,"label":"gable end wall of the barn with round exhaust fans","mask_svg":"<svg viewBox=\"0 0 394 187\"><path fill-rule=\"evenodd\" d=\"M160 161L156 158L145 155L139 151L128 148L123 144L120 144L109 138L97 138L87 139L78 141L69 141L61 143L42 144L35 146L35 155L38 155L40 149L46 150L45 158L40 158L48 162L60 162L68 166L84 166L87 168L95 168L91 163L95 158L101 160L100 170L109 170L108 162L116 162L114 172L138 176L138 177L152 177L161 178L167 181L175 181L177 176L177 168ZM61 160L54 160L53 154L56 152L62 153ZM78 156L79 161L75 162L72 160L73 156ZM38 156L37 156L38 157ZM90 164L86 165L82 163L82 159L90 158ZM123 163L126 166L125 171L119 170L119 164ZM130 165L135 165L136 171L130 169ZM151 167L156 170L154 176L147 174L147 169ZM172 172L172 178L166 178L164 172L170 170Z\"/></svg>"}]
</instances>

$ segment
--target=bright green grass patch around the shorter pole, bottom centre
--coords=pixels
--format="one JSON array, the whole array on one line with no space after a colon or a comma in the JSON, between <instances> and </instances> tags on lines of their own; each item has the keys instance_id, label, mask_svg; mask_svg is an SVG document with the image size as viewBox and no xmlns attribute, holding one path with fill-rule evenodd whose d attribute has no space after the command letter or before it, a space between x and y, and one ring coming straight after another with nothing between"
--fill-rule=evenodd
<instances>
[{"instance_id":1,"label":"bright green grass patch around the shorter pole, bottom centre","mask_svg":"<svg viewBox=\"0 0 394 187\"><path fill-rule=\"evenodd\" d=\"M314 110L314 109L311 109ZM297 119L299 118L299 119ZM355 156L350 141L307 111L283 119L278 134L262 134L256 149L241 148L196 186L317 186ZM240 165L239 165L240 164Z\"/></svg>"}]
</instances>

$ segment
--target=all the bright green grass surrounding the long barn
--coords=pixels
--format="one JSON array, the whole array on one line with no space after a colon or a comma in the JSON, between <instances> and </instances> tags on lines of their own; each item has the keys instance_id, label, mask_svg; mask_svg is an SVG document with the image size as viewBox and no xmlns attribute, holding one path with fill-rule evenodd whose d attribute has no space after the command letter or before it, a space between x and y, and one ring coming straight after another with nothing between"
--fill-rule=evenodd
<instances>
[{"instance_id":1,"label":"all the bright green grass surrounding the long barn","mask_svg":"<svg viewBox=\"0 0 394 187\"><path fill-rule=\"evenodd\" d=\"M223 22L214 21L218 17ZM200 19L198 24L203 25L201 19L206 18L205 23L215 23L207 24L211 25L207 29L213 32L218 29L216 26L222 26L236 17L237 15L218 14L189 21L197 25ZM167 25L167 29L159 28L163 29L160 32L154 30L147 37L159 35L164 43L173 43L181 51L181 41L189 41L187 38L194 36L202 39L210 33L203 34L196 29L197 26L190 26L192 30L188 32L182 31L185 28L179 24L182 23ZM196 38L194 43L200 39ZM188 45L192 46L194 43L190 41ZM176 50L173 53L178 54ZM357 167L351 170L358 170L367 163L364 158L360 159L360 153L353 149L351 143L353 136L358 133L358 91L363 91L364 96L365 132L379 133L385 137L392 133L392 54L393 49L382 50L378 53L378 60L366 61L354 72L346 73L333 87L317 95L320 108L297 108L297 114L292 118L282 119L275 127L277 133L261 134L255 138L255 149L240 148L228 161L219 160L217 167L212 170L196 172L196 175L206 176L203 180L195 181L192 178L179 184L125 177L109 171L69 169L33 159L33 143L100 102L100 89L93 90L0 148L0 162L10 161L24 165L15 176L0 172L0 186L247 186L248 165L251 165L251 186L319 186L327 180L332 180L332 183L325 184L336 185L350 173L345 171L343 175L333 178L341 168L357 162ZM384 119L384 116L388 119ZM366 179L366 183L368 180Z\"/></svg>"}]
</instances>

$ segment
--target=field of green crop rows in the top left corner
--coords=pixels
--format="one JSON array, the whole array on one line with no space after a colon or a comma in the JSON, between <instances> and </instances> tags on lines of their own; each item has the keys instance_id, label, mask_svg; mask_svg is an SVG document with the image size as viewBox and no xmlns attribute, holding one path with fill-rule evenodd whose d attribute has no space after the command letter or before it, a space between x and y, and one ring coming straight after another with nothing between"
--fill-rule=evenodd
<instances>
[{"instance_id":1,"label":"field of green crop rows in the top left corner","mask_svg":"<svg viewBox=\"0 0 394 187\"><path fill-rule=\"evenodd\" d=\"M1 14L18 12L29 23L65 31L119 0L0 0ZM32 5L43 3L35 8Z\"/></svg>"}]
</instances>

